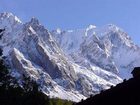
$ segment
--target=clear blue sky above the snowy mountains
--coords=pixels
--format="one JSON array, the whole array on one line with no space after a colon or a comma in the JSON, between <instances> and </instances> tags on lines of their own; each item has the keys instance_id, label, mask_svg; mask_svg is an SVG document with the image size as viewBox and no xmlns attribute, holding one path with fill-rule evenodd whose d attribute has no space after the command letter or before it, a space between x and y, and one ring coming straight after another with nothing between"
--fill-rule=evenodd
<instances>
[{"instance_id":1,"label":"clear blue sky above the snowy mountains","mask_svg":"<svg viewBox=\"0 0 140 105\"><path fill-rule=\"evenodd\" d=\"M140 0L0 0L0 12L23 22L37 17L48 29L116 24L140 45Z\"/></svg>"}]
</instances>

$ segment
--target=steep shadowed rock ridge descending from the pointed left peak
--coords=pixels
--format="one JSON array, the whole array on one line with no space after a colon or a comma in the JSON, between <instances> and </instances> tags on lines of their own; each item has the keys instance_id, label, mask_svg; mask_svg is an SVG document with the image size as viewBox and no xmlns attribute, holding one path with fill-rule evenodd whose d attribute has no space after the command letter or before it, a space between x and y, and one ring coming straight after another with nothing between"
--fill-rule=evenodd
<instances>
[{"instance_id":1,"label":"steep shadowed rock ridge descending from the pointed left peak","mask_svg":"<svg viewBox=\"0 0 140 105\"><path fill-rule=\"evenodd\" d=\"M34 65L37 65L44 72L47 72L52 79L66 79L70 84L73 85L74 81L77 79L74 69L67 62L65 56L62 54L57 44L53 42L49 32L45 30L44 27L39 27L39 24L30 24L34 25L34 29L31 29L30 25L26 24L26 26L23 28L25 34L22 36L23 41L19 42L20 44L17 47L22 57L29 61L28 63L30 63L33 68L36 68ZM37 30L36 33L33 32L35 29ZM42 33L40 30L43 30ZM17 56L17 53L15 53L18 50L15 50L11 53L12 64L14 65L13 67L22 71L28 71L26 70L28 67L23 67L25 64L21 64L22 62L18 59L19 56ZM64 66L58 65L57 62L63 64ZM38 72L37 69L35 69L35 71Z\"/></svg>"}]
</instances>

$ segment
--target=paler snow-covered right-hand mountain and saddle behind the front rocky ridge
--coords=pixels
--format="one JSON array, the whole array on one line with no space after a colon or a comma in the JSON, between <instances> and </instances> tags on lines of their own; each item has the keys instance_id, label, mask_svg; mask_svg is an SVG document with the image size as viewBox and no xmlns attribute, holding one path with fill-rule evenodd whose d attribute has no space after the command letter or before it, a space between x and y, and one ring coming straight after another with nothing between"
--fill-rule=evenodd
<instances>
[{"instance_id":1,"label":"paler snow-covered right-hand mountain and saddle behind the front rocky ridge","mask_svg":"<svg viewBox=\"0 0 140 105\"><path fill-rule=\"evenodd\" d=\"M101 28L89 27L70 32L61 31L61 33L52 31L52 34L75 63L90 69L96 65L121 78L130 78L131 70L140 65L140 47L133 43L127 33L115 25L109 24Z\"/></svg>"}]
</instances>

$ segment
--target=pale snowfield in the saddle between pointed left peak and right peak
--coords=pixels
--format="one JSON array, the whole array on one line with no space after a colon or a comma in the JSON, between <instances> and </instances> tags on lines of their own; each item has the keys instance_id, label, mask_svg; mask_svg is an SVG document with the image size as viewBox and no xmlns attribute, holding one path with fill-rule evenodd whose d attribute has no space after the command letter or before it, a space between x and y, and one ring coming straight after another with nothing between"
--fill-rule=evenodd
<instances>
[{"instance_id":1,"label":"pale snowfield in the saddle between pointed left peak and right peak","mask_svg":"<svg viewBox=\"0 0 140 105\"><path fill-rule=\"evenodd\" d=\"M80 44L87 37L92 29L96 29L96 26L90 25L87 29L68 30L61 31L60 29L52 31L55 34L56 41L61 45L61 48L67 53L75 52L79 49ZM63 39L63 40L62 40Z\"/></svg>"}]
</instances>

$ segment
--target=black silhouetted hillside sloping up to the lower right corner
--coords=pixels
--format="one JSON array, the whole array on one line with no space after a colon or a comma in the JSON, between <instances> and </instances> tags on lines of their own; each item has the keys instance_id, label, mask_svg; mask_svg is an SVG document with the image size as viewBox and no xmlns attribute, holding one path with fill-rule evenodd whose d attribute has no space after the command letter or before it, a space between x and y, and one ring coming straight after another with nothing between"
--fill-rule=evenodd
<instances>
[{"instance_id":1,"label":"black silhouetted hillside sloping up to the lower right corner","mask_svg":"<svg viewBox=\"0 0 140 105\"><path fill-rule=\"evenodd\" d=\"M76 105L140 105L140 75L135 76L140 67L133 70L134 77L111 87L100 94L91 96Z\"/></svg>"}]
</instances>

